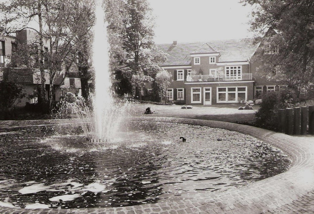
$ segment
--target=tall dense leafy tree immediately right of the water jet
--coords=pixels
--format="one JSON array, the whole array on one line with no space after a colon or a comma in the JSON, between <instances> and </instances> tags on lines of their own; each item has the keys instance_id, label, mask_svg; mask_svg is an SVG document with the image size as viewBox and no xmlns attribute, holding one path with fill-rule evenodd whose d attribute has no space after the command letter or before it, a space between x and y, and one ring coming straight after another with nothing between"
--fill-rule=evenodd
<instances>
[{"instance_id":1,"label":"tall dense leafy tree immediately right of the water jet","mask_svg":"<svg viewBox=\"0 0 314 214\"><path fill-rule=\"evenodd\" d=\"M118 94L129 94L133 75L154 79L161 69L158 63L165 61L165 55L154 50L151 8L147 0L107 0L106 19L115 89Z\"/></svg>"}]
</instances>

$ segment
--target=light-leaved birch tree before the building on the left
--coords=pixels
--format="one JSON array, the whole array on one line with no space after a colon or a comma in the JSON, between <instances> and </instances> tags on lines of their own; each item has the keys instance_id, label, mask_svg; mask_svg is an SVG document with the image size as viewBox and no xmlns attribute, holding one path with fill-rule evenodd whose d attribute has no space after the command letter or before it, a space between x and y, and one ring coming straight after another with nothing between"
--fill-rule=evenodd
<instances>
[{"instance_id":1,"label":"light-leaved birch tree before the building on the left","mask_svg":"<svg viewBox=\"0 0 314 214\"><path fill-rule=\"evenodd\" d=\"M46 100L45 85L48 81L50 88L48 102L52 106L53 97L60 87L60 85L55 87L55 81L60 78L62 69L66 76L74 62L78 60L78 52L84 49L78 42L81 41L81 36L87 34L86 31L92 23L89 20L91 16L86 19L87 16L84 15L88 11L84 9L84 5L84 0L12 0L9 5L0 5L5 11L3 21L6 22L6 27L10 24L13 26L6 28L4 30L6 33L20 29L14 25L16 21L20 21L22 29L26 29L30 28L30 20L38 18L39 31L31 29L38 33L38 40L34 45L39 44L37 67L41 72L41 90L38 101L41 103ZM18 15L12 17L12 14ZM44 51L44 40L49 42L47 52ZM81 57L80 65L83 64L82 60L84 59Z\"/></svg>"}]
</instances>

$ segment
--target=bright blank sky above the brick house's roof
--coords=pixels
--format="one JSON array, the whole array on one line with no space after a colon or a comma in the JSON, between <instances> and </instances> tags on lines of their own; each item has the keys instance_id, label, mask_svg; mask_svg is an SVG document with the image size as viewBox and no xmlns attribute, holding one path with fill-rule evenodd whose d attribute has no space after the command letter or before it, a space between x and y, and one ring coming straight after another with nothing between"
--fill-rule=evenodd
<instances>
[{"instance_id":1,"label":"bright blank sky above the brick house's roof","mask_svg":"<svg viewBox=\"0 0 314 214\"><path fill-rule=\"evenodd\" d=\"M155 15L157 44L254 37L252 6L239 0L148 0Z\"/></svg>"}]
</instances>

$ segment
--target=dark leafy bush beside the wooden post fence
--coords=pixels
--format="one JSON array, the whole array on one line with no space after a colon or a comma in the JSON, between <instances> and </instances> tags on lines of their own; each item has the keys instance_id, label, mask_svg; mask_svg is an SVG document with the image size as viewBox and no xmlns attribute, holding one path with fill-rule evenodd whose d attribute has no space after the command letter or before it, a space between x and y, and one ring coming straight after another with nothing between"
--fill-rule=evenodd
<instances>
[{"instance_id":1,"label":"dark leafy bush beside the wooden post fence","mask_svg":"<svg viewBox=\"0 0 314 214\"><path fill-rule=\"evenodd\" d=\"M295 92L291 89L271 91L262 94L260 98L263 102L255 113L255 125L273 131L277 131L278 109L292 108L298 102Z\"/></svg>"}]
</instances>

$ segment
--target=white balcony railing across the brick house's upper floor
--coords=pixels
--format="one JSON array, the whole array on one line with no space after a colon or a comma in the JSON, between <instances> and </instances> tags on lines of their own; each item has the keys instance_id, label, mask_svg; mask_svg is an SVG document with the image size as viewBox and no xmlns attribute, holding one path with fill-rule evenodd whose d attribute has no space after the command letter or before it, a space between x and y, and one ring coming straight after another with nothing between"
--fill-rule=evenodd
<instances>
[{"instance_id":1,"label":"white balcony railing across the brick house's upper floor","mask_svg":"<svg viewBox=\"0 0 314 214\"><path fill-rule=\"evenodd\" d=\"M242 74L219 74L219 75L188 75L187 82L202 81L236 81L236 80L252 80L252 73Z\"/></svg>"}]
</instances>

